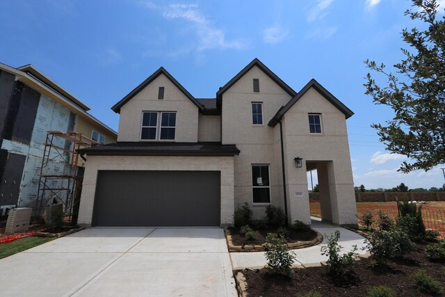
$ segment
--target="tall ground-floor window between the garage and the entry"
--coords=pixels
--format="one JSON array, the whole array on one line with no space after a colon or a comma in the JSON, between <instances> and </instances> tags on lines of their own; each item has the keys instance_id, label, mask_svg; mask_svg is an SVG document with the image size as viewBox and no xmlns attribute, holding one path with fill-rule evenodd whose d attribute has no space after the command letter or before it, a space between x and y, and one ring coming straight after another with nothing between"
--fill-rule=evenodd
<instances>
[{"instance_id":1,"label":"tall ground-floor window between the garage and the entry","mask_svg":"<svg viewBox=\"0 0 445 297\"><path fill-rule=\"evenodd\" d=\"M254 203L270 203L268 165L252 164L252 191Z\"/></svg>"}]
</instances>

